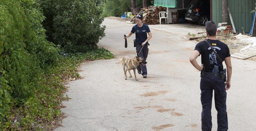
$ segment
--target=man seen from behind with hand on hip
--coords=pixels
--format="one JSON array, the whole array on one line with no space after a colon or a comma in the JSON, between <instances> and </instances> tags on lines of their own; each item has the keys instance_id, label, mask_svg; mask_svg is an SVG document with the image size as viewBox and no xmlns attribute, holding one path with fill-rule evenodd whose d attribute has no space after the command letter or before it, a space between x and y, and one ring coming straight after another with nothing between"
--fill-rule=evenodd
<instances>
[{"instance_id":1,"label":"man seen from behind with hand on hip","mask_svg":"<svg viewBox=\"0 0 256 131\"><path fill-rule=\"evenodd\" d=\"M218 112L218 131L228 130L228 116L226 107L227 92L230 88L232 66L228 46L216 39L217 26L213 21L206 22L205 25L208 42L199 42L190 56L191 64L201 71L201 103L202 103L202 131L211 131L211 105L214 90L215 108ZM216 54L217 53L217 54ZM197 57L201 55L201 65L197 64ZM220 57L220 58L219 58ZM221 60L222 59L222 60ZM220 77L223 71L222 61L227 66L227 81Z\"/></svg>"}]
</instances>

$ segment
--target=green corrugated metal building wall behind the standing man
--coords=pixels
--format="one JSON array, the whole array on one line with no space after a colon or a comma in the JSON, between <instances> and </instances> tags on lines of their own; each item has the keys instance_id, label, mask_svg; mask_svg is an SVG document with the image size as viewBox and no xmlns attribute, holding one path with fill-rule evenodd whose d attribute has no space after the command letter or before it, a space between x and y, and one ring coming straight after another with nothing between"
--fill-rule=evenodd
<instances>
[{"instance_id":1,"label":"green corrugated metal building wall behind the standing man","mask_svg":"<svg viewBox=\"0 0 256 131\"><path fill-rule=\"evenodd\" d=\"M228 7L237 32L250 32L254 0L228 0ZM221 0L212 0L212 19L216 24L221 22ZM229 24L232 25L230 19Z\"/></svg>"}]
</instances>

